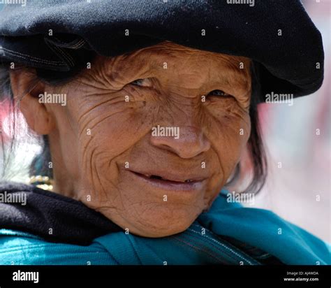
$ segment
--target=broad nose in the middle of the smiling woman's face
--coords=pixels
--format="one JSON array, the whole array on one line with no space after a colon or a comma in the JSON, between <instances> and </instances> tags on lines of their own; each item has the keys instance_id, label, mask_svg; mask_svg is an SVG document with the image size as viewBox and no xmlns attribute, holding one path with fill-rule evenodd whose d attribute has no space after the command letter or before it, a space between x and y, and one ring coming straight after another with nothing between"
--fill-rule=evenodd
<instances>
[{"instance_id":1,"label":"broad nose in the middle of the smiling woman's face","mask_svg":"<svg viewBox=\"0 0 331 288\"><path fill-rule=\"evenodd\" d=\"M153 127L152 145L188 159L210 148L203 131L195 127Z\"/></svg>"}]
</instances>

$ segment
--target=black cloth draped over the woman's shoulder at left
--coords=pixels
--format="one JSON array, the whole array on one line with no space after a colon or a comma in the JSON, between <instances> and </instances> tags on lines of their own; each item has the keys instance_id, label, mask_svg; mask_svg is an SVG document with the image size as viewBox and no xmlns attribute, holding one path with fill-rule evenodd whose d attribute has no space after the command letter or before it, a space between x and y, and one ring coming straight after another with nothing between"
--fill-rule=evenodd
<instances>
[{"instance_id":1,"label":"black cloth draped over the woman's shoulder at left","mask_svg":"<svg viewBox=\"0 0 331 288\"><path fill-rule=\"evenodd\" d=\"M78 245L120 230L80 201L15 182L0 183L0 227Z\"/></svg>"}]
</instances>

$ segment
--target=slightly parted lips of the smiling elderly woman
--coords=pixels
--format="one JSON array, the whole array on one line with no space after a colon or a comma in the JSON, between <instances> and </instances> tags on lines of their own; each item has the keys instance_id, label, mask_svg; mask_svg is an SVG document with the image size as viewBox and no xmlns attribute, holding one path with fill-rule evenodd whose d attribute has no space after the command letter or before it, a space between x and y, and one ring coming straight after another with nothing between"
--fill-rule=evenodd
<instances>
[{"instance_id":1,"label":"slightly parted lips of the smiling elderly woman","mask_svg":"<svg viewBox=\"0 0 331 288\"><path fill-rule=\"evenodd\" d=\"M165 190L176 190L176 191L198 191L203 189L205 179L203 178L187 178L186 180L168 180L166 177L161 177L154 174L138 173L130 171L138 179L153 185L154 187L165 189Z\"/></svg>"}]
</instances>

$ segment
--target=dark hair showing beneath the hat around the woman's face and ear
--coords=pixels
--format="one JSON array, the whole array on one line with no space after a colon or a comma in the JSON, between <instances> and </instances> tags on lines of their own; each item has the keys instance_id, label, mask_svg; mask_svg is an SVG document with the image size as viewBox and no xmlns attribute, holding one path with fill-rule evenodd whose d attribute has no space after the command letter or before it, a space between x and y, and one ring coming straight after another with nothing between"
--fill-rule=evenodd
<instances>
[{"instance_id":1,"label":"dark hair showing beneath the hat around the woman's face and ear","mask_svg":"<svg viewBox=\"0 0 331 288\"><path fill-rule=\"evenodd\" d=\"M36 79L31 86L34 87L38 81L46 82L47 84L57 86L64 85L67 82L70 82L75 77L77 77L82 71L83 66L87 62L92 62L95 55L89 54L86 59L80 59L80 66L77 66L74 70L68 72L56 72L45 69L36 69ZM23 67L17 67L15 69L20 69ZM15 102L13 99L13 92L10 87L10 77L9 77L8 65L0 66L0 101L9 101L8 109L10 113L15 115L17 107L15 107ZM260 124L258 120L258 99L260 99L260 86L258 82L258 72L256 71L255 65L252 63L251 65L251 79L252 79L252 96L251 96L251 106L249 110L249 115L251 118L251 134L248 140L248 151L249 157L253 164L252 177L249 182L249 185L244 189L247 193L258 193L260 189L262 189L265 184L265 180L267 177L267 158L265 155L265 149L263 146L263 140L261 137ZM30 89L31 90L31 89ZM28 91L27 91L28 92ZM0 119L1 120L1 119ZM0 121L0 124L2 120ZM13 117L13 131L15 131L15 117ZM8 155L5 154L5 148L3 147L3 134L1 135L1 145L2 145L2 153L3 153L3 166L9 166L10 157L13 156L13 143L15 143L15 133L13 134L13 138L10 141L10 148L8 149ZM40 154L36 155L34 160L32 161L29 173L30 175L43 175L52 178L52 169L48 168L48 164L51 161L50 154L50 145L48 143L48 137L41 137L41 145L42 151ZM3 170L4 171L4 170ZM3 178L3 175L2 177ZM238 180L242 178L242 165L239 163L235 167L235 171L231 176L230 180L228 180L226 187L231 187L235 185Z\"/></svg>"}]
</instances>

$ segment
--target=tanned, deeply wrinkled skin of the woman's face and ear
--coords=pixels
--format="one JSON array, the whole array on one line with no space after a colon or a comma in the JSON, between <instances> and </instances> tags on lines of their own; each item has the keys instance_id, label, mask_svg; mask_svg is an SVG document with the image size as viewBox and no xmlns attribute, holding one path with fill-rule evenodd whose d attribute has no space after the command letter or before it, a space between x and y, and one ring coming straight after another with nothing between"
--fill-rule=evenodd
<instances>
[{"instance_id":1,"label":"tanned, deeply wrinkled skin of the woman's face and ear","mask_svg":"<svg viewBox=\"0 0 331 288\"><path fill-rule=\"evenodd\" d=\"M55 192L130 233L168 236L212 205L240 159L250 133L249 63L165 42L112 59L98 56L63 87L39 83L20 108L31 129L50 138ZM10 78L17 99L31 73L13 71ZM38 103L44 91L66 93L67 105ZM158 124L179 127L179 139L152 136ZM199 185L163 189L133 171Z\"/></svg>"}]
</instances>

